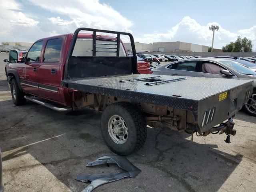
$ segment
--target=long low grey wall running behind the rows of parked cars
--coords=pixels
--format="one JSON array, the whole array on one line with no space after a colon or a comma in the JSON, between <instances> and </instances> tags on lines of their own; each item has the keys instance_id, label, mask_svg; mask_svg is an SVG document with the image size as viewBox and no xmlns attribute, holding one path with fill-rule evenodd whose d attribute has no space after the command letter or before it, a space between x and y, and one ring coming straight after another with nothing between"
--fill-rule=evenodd
<instances>
[{"instance_id":1,"label":"long low grey wall running behind the rows of parked cars","mask_svg":"<svg viewBox=\"0 0 256 192\"><path fill-rule=\"evenodd\" d=\"M184 56L201 56L201 57L216 57L216 56L236 56L236 57L252 57L256 53L240 53L240 52L150 52L150 54L167 54L167 55L184 55Z\"/></svg>"}]
</instances>

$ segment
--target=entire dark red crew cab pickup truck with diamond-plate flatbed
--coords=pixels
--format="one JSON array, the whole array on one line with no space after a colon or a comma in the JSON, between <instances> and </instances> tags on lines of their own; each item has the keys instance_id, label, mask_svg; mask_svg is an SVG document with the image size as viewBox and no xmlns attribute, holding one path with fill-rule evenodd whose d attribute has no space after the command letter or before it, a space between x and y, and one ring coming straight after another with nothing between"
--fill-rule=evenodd
<instances>
[{"instance_id":1,"label":"entire dark red crew cab pickup truck with diamond-plate flatbed","mask_svg":"<svg viewBox=\"0 0 256 192\"><path fill-rule=\"evenodd\" d=\"M130 37L132 57L121 35ZM134 39L125 32L78 28L36 41L22 62L17 59L10 51L6 73L14 104L100 111L102 137L120 155L139 150L146 125L160 123L200 136L224 132L229 142L236 134L232 118L252 94L248 80L138 74Z\"/></svg>"}]
</instances>

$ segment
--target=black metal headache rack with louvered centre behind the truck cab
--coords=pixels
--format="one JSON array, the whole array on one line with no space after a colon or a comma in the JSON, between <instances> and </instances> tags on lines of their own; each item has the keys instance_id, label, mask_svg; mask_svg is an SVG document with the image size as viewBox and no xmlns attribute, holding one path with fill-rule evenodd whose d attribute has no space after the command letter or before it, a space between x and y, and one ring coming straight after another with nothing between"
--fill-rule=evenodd
<instances>
[{"instance_id":1,"label":"black metal headache rack with louvered centre behind the truck cab","mask_svg":"<svg viewBox=\"0 0 256 192\"><path fill-rule=\"evenodd\" d=\"M72 56L80 31L92 31L92 56ZM117 36L102 36L96 34L96 32L116 34ZM120 56L120 35L127 35L130 37L133 57ZM104 42L98 42L100 40L103 40ZM115 53L115 56L96 56L97 52ZM68 56L66 58L64 80L137 73L137 57L132 34L92 28L78 28L74 32L68 50ZM62 82L62 86L66 87L67 84Z\"/></svg>"}]
</instances>

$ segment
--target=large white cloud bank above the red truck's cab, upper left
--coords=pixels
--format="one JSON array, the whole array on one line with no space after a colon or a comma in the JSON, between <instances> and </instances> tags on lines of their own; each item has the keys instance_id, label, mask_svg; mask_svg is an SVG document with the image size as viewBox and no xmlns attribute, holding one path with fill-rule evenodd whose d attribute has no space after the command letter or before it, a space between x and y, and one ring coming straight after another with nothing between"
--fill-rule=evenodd
<instances>
[{"instance_id":1,"label":"large white cloud bank above the red truck's cab, upper left","mask_svg":"<svg viewBox=\"0 0 256 192\"><path fill-rule=\"evenodd\" d=\"M59 16L25 14L28 2L22 5L16 0L1 0L0 25L4 30L0 30L0 41L13 41L15 36L17 41L31 42L52 34L74 32L78 27L132 32L130 20L98 0L73 0L71 4L68 0L30 0L30 3Z\"/></svg>"}]
</instances>

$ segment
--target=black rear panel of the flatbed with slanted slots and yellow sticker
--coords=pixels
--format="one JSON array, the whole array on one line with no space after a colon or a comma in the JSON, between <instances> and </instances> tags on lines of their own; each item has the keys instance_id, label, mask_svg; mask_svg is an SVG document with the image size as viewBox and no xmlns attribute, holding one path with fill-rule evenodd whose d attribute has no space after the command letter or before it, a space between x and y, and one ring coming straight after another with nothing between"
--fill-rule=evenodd
<instances>
[{"instance_id":1,"label":"black rear panel of the flatbed with slanted slots and yellow sticker","mask_svg":"<svg viewBox=\"0 0 256 192\"><path fill-rule=\"evenodd\" d=\"M201 100L198 113L194 113L198 132L207 133L217 124L230 120L248 101L252 89L252 82L248 82ZM212 130L214 131L218 130Z\"/></svg>"}]
</instances>

